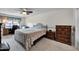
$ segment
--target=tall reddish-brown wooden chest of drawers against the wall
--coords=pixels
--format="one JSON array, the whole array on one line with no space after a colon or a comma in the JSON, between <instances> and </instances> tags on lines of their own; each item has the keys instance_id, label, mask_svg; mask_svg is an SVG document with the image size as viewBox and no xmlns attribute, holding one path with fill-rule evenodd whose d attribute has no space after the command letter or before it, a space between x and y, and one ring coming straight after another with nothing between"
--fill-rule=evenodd
<instances>
[{"instance_id":1,"label":"tall reddish-brown wooden chest of drawers against the wall","mask_svg":"<svg viewBox=\"0 0 79 59\"><path fill-rule=\"evenodd\" d=\"M56 41L71 45L71 26L56 26Z\"/></svg>"}]
</instances>

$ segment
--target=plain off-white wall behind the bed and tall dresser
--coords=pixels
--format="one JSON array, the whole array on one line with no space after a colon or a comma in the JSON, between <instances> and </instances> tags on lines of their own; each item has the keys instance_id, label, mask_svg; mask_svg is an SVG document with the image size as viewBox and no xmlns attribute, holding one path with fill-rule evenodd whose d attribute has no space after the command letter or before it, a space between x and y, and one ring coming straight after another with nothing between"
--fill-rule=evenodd
<instances>
[{"instance_id":1,"label":"plain off-white wall behind the bed and tall dresser","mask_svg":"<svg viewBox=\"0 0 79 59\"><path fill-rule=\"evenodd\" d=\"M73 9L54 9L51 8L51 11L48 10L46 12L38 13L35 15L27 16L26 24L27 23L43 23L47 24L48 26L55 25L74 25L73 20Z\"/></svg>"}]
</instances>

